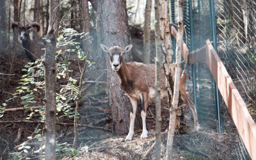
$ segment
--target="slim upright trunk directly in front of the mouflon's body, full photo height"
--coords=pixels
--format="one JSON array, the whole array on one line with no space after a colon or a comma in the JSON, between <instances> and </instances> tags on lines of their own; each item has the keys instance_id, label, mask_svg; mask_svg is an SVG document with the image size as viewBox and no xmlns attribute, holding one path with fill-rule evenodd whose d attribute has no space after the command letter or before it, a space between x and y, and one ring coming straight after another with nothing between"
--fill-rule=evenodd
<instances>
[{"instance_id":1,"label":"slim upright trunk directly in front of the mouflon's body, full photo height","mask_svg":"<svg viewBox=\"0 0 256 160\"><path fill-rule=\"evenodd\" d=\"M161 39L160 39L160 26L159 26L159 0L155 0L155 38L156 38L156 159L161 159Z\"/></svg>"}]
</instances>

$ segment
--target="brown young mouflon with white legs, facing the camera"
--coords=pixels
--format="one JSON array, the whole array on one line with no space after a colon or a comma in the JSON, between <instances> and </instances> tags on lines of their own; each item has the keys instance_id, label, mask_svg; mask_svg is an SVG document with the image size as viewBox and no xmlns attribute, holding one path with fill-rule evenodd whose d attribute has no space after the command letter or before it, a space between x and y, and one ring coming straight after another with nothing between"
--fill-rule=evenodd
<instances>
[{"instance_id":1,"label":"brown young mouflon with white legs, facing the camera","mask_svg":"<svg viewBox=\"0 0 256 160\"><path fill-rule=\"evenodd\" d=\"M138 62L125 63L124 55L129 52L132 45L128 45L123 49L122 47L114 46L108 48L106 45L100 44L103 51L108 53L111 68L116 71L120 77L120 87L128 95L131 100L132 109L130 113L130 129L129 134L125 138L125 141L132 140L134 134L134 120L136 116L137 100L141 99L141 118L143 122L143 131L140 138L147 138L147 127L146 127L146 115L147 115L147 105L148 100L155 102L156 90L155 90L155 80L156 80L156 66L154 64L143 64ZM193 113L195 130L198 130L199 125L196 118L195 104L188 99L186 94L186 78L187 74L180 78L180 97L181 100L189 106ZM164 68L161 68L161 99L168 101L168 94L166 92L165 86L165 76Z\"/></svg>"}]
</instances>

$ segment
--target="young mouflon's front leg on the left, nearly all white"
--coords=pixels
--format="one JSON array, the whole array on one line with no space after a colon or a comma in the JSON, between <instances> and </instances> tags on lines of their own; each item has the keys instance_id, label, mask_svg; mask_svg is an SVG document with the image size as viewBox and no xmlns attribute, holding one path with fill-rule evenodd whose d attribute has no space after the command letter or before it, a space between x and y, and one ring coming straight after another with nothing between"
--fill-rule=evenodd
<instances>
[{"instance_id":1,"label":"young mouflon's front leg on the left, nearly all white","mask_svg":"<svg viewBox=\"0 0 256 160\"><path fill-rule=\"evenodd\" d=\"M137 100L132 99L131 97L129 97L131 100L131 104L132 104L132 109L131 109L131 113L130 113L130 129L129 129L129 133L125 138L125 141L129 141L132 140L132 136L134 133L134 121L135 121L135 116L136 116L136 110L137 110Z\"/></svg>"}]
</instances>

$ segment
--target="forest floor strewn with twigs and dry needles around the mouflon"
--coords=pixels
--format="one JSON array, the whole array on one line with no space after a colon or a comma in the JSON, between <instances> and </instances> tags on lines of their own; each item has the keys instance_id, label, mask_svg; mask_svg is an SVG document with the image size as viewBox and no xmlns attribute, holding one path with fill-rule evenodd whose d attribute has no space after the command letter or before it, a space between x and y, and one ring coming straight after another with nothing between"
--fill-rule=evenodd
<instances>
[{"instance_id":1,"label":"forest floor strewn with twigs and dry needles around the mouflon","mask_svg":"<svg viewBox=\"0 0 256 160\"><path fill-rule=\"evenodd\" d=\"M140 31L132 33L132 42L134 48L143 51L141 43L143 44L143 38ZM154 33L152 33L152 55L151 59L154 60ZM0 104L3 104L6 99L13 97L13 93L16 93L16 87L20 86L19 79L22 79L22 75L25 74L22 71L24 65L28 63L28 58L24 54L22 49L17 49L15 55L13 51L4 53L0 61L0 72L4 74L14 74L13 76L0 75ZM150 147L156 141L155 139L155 106L150 104L147 111L147 129L148 138L140 139L141 130L138 129L131 141L124 141L125 136L112 136L111 132L111 114L108 104L108 97L106 95L106 70L105 60L101 55L94 56L91 61L95 61L96 69L94 71L89 70L86 72L85 77L90 83L85 83L83 86L84 99L81 102L79 108L79 124L93 125L101 127L102 129L84 129L79 128L79 145L88 146L88 152L79 157L63 157L62 159L141 159L145 156L145 153L150 150ZM138 60L140 61L140 60ZM76 62L74 60L74 62ZM104 62L104 63L102 63ZM79 65L82 63L75 63L72 65L73 74L72 77L78 77ZM101 83L93 83L93 81L100 81ZM60 83L63 83L62 81ZM65 83L63 83L65 84ZM86 95L86 96L85 96ZM22 96L22 95L20 95ZM40 98L42 95L38 95ZM20 99L13 99L8 103L7 108L22 108ZM166 131L169 123L169 111L168 105L162 103L162 132ZM200 128L200 131L193 131L193 117L191 111L186 106L184 107L184 113L186 118L186 124L188 125L188 131L185 134L175 134L173 143L173 157L175 159L234 159L236 150L232 150L232 141L227 134L220 134L218 132L211 131L204 127ZM28 123L15 123L11 121L25 120L29 113L24 111L8 112L4 113L4 116L0 119L0 122L6 122L0 124L0 159L9 159L8 152L17 151L17 147L20 143L28 140L28 136L35 136L36 128L43 128L43 124L28 124ZM32 120L36 120L39 114L35 114ZM10 123L9 123L10 122ZM67 124L73 124L72 118L60 118L58 122L64 122ZM104 131L106 129L108 131ZM21 132L20 132L21 131ZM74 140L73 127L66 125L58 125L57 137L58 140L63 143L67 142L72 144ZM17 135L20 132L19 140ZM162 135L161 145L161 159L166 159L166 139L167 134ZM15 141L16 140L16 141ZM36 146L35 146L36 147ZM35 150L38 149L35 148ZM145 159L154 159L154 148L149 152ZM38 159L38 155L31 154L29 156L32 159Z\"/></svg>"}]
</instances>

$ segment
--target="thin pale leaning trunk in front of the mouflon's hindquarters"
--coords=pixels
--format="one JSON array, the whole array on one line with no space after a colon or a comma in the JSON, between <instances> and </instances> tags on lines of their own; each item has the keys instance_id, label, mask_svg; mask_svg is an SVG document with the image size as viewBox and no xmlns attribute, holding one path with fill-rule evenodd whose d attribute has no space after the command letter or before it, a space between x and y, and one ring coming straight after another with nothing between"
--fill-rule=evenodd
<instances>
[{"instance_id":1,"label":"thin pale leaning trunk in front of the mouflon's hindquarters","mask_svg":"<svg viewBox=\"0 0 256 160\"><path fill-rule=\"evenodd\" d=\"M168 131L168 139L167 139L167 146L166 146L166 157L167 159L172 159L173 154L173 136L175 132L175 120L176 120L176 112L179 104L179 91L180 91L180 70L181 70L181 47L183 42L183 33L184 33L184 26L183 26L183 13L182 13L182 0L178 1L179 4L179 12L178 12L178 21L179 21L179 28L178 28L178 40L176 46L176 66L175 66L175 81L174 81L174 88L173 88L173 100L172 100L172 108L170 113L170 123L169 123L169 131Z\"/></svg>"}]
</instances>

